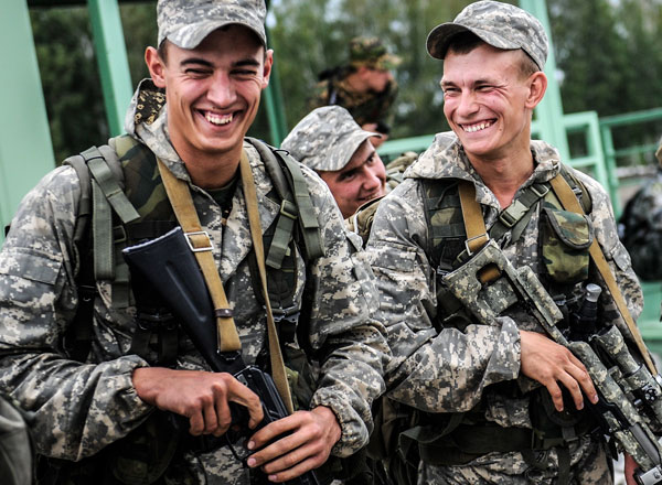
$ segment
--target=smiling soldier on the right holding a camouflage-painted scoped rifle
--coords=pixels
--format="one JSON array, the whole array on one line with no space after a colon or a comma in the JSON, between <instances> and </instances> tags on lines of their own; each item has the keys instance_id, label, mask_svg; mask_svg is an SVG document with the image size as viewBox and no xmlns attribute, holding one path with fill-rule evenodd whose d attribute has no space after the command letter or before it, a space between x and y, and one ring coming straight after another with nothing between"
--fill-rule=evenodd
<instances>
[{"instance_id":1,"label":"smiling soldier on the right holding a camouflage-painted scoped rifle","mask_svg":"<svg viewBox=\"0 0 662 485\"><path fill-rule=\"evenodd\" d=\"M642 308L604 188L531 140L547 85L544 29L516 7L479 1L436 26L427 48L444 60L453 132L438 134L381 202L366 249L393 353L387 396L417 410L418 425L399 435L414 444L401 451L419 453L418 484L611 483L585 409L598 400L586 367L547 337L503 272L470 266L496 247L572 314L587 282L605 287L589 263L595 238L632 315ZM563 209L557 181L588 216ZM600 322L631 336L606 293Z\"/></svg>"}]
</instances>

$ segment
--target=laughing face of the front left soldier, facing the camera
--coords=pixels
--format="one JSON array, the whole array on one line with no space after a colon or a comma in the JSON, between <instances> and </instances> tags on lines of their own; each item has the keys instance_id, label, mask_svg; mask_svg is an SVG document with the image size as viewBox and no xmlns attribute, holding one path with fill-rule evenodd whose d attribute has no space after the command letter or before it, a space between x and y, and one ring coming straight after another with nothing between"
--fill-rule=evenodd
<instances>
[{"instance_id":1,"label":"laughing face of the front left soldier, facing the camera","mask_svg":"<svg viewBox=\"0 0 662 485\"><path fill-rule=\"evenodd\" d=\"M212 32L193 50L167 48L166 60L148 58L148 66L154 84L166 88L168 128L180 157L241 151L269 82L271 51L265 55L256 35L241 25Z\"/></svg>"}]
</instances>

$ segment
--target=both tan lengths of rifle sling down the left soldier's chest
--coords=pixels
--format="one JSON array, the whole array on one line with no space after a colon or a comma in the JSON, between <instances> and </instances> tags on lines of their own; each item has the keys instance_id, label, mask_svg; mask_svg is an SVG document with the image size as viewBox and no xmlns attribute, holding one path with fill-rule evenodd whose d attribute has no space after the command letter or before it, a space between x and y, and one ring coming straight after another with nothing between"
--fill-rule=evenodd
<instances>
[{"instance_id":1,"label":"both tan lengths of rifle sling down the left soldier's chest","mask_svg":"<svg viewBox=\"0 0 662 485\"><path fill-rule=\"evenodd\" d=\"M232 309L227 302L227 297L225 295L225 290L223 289L223 282L221 281L218 269L214 262L212 241L209 234L202 229L200 218L197 217L195 206L193 205L193 198L191 197L191 191L189 190L186 182L177 179L163 165L163 162L160 159L157 159L157 164L159 166L159 173L163 180L163 186L168 193L168 198L170 200L174 215L182 226L184 236L186 237L191 250L193 251L195 259L200 265L210 291L210 295L212 298L212 302L214 304L218 335L218 352L238 352L242 348L242 343L239 341L237 328L232 315ZM242 184L244 187L246 207L248 211L250 236L256 252L256 259L259 267L260 280L263 282L263 291L265 295L271 373L274 375L273 377L278 392L280 394L280 397L282 398L288 411L291 413L293 410L292 399L287 382L285 364L282 360L282 354L280 352L280 345L278 343L278 334L276 332L276 325L274 323L274 315L271 314L271 305L267 291L266 270L264 267L264 247L261 240L259 214L257 211L255 181L253 179L253 172L250 171L250 164L245 151L242 151L239 171L242 173Z\"/></svg>"}]
</instances>

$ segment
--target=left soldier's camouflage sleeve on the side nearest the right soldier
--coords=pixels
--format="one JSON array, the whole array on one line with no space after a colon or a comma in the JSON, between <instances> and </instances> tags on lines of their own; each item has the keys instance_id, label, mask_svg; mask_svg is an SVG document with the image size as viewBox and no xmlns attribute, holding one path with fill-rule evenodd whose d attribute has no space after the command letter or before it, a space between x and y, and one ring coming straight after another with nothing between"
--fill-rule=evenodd
<instances>
[{"instance_id":1,"label":"left soldier's camouflage sleeve on the side nearest the right soldier","mask_svg":"<svg viewBox=\"0 0 662 485\"><path fill-rule=\"evenodd\" d=\"M311 299L309 336L320 357L320 378L311 407L335 413L342 436L332 453L348 456L367 443L373 428L372 401L385 390L389 351L385 330L371 316L376 293L361 240L348 233L327 185L306 171L313 205L322 220L324 255L308 271L305 298Z\"/></svg>"}]
</instances>

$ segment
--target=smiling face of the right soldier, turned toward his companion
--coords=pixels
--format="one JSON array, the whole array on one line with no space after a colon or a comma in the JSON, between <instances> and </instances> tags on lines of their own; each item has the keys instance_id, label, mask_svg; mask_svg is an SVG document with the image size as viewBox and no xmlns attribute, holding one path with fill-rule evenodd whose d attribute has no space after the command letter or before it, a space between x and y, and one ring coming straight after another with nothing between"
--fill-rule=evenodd
<instances>
[{"instance_id":1,"label":"smiling face of the right soldier, turned toward his companion","mask_svg":"<svg viewBox=\"0 0 662 485\"><path fill-rule=\"evenodd\" d=\"M444 60L444 114L470 160L505 159L528 151L531 116L546 78L522 74L523 51L481 43Z\"/></svg>"}]
</instances>

